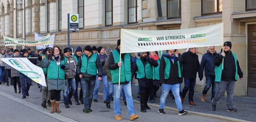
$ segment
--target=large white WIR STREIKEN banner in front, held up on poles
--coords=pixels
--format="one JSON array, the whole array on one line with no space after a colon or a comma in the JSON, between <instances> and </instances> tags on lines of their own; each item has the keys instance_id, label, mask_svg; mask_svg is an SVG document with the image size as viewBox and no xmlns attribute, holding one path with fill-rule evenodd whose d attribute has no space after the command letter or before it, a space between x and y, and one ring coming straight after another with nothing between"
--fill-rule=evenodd
<instances>
[{"instance_id":1,"label":"large white WIR STREIKEN banner in front, held up on poles","mask_svg":"<svg viewBox=\"0 0 256 122\"><path fill-rule=\"evenodd\" d=\"M121 53L223 45L223 23L181 30L121 30Z\"/></svg>"}]
</instances>

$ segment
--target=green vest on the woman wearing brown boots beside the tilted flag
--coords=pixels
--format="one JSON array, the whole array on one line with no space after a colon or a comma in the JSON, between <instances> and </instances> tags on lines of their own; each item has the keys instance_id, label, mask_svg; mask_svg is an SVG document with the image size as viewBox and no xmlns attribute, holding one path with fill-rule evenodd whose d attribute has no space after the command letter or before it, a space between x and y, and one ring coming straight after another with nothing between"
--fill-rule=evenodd
<instances>
[{"instance_id":1,"label":"green vest on the woman wearing brown boots beside the tilted flag","mask_svg":"<svg viewBox=\"0 0 256 122\"><path fill-rule=\"evenodd\" d=\"M59 79L65 79L65 71L64 69L61 69L61 65L65 65L67 61L67 58L64 57L64 60L60 62L60 65L58 66L56 62L51 59L51 63L48 65L47 68L47 79L57 79L59 74Z\"/></svg>"}]
</instances>

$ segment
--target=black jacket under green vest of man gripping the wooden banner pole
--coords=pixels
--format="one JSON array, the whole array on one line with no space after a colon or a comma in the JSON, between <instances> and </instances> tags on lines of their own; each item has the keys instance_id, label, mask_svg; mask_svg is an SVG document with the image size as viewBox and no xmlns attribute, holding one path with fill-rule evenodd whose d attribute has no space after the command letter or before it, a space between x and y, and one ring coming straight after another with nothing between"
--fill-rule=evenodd
<instances>
[{"instance_id":1,"label":"black jacket under green vest of man gripping the wooden banner pole","mask_svg":"<svg viewBox=\"0 0 256 122\"><path fill-rule=\"evenodd\" d=\"M118 48L115 48L117 51L118 51L118 53L120 54L120 49L118 49ZM122 55L121 55L121 58L122 58L122 60L123 61L125 61L125 54L126 53L122 53ZM119 68L119 66L117 65L117 63L115 63L115 61L114 61L114 56L113 56L113 53L112 52L110 52L109 53L109 60L108 60L109 62L108 62L108 68L110 69L110 70L114 70L114 69L117 69L117 68ZM131 60L131 70L132 70L132 68L133 68L133 61ZM131 77L131 78L133 78L133 76ZM123 82L123 83L121 83L121 84L127 84L127 83L129 83L130 81L125 81L125 82ZM116 83L117 84L117 83Z\"/></svg>"}]
</instances>

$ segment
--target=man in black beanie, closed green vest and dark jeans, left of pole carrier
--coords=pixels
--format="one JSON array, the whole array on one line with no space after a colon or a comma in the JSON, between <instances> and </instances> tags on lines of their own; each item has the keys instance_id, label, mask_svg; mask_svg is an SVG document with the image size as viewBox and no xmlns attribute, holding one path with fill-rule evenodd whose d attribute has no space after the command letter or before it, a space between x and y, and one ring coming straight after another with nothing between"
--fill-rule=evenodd
<instances>
[{"instance_id":1,"label":"man in black beanie, closed green vest and dark jeans, left of pole carrier","mask_svg":"<svg viewBox=\"0 0 256 122\"><path fill-rule=\"evenodd\" d=\"M77 63L77 74L81 78L81 87L84 98L83 112L92 112L93 89L95 85L98 69L98 80L101 81L102 65L96 53L92 52L90 45L84 48L84 54L79 58Z\"/></svg>"}]
</instances>

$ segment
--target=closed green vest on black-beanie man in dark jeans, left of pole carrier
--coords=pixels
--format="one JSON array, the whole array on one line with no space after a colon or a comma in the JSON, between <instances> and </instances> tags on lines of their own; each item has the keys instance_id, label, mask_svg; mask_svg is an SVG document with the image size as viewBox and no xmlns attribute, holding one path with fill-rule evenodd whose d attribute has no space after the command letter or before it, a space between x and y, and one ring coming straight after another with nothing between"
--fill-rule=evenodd
<instances>
[{"instance_id":1,"label":"closed green vest on black-beanie man in dark jeans, left of pole carrier","mask_svg":"<svg viewBox=\"0 0 256 122\"><path fill-rule=\"evenodd\" d=\"M89 61L87 62L87 57L85 54L82 54L82 61L81 61L81 73L85 73L90 75L97 75L97 67L96 67L96 60L97 54L93 53L92 57L90 57Z\"/></svg>"}]
</instances>

